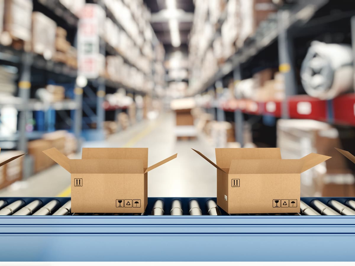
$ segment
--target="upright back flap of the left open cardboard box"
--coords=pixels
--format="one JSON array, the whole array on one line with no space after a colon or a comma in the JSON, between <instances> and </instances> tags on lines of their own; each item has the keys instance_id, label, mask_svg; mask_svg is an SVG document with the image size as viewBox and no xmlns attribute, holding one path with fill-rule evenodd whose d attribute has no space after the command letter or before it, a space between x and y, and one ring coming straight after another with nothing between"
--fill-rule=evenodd
<instances>
[{"instance_id":1,"label":"upright back flap of the left open cardboard box","mask_svg":"<svg viewBox=\"0 0 355 266\"><path fill-rule=\"evenodd\" d=\"M148 148L83 148L82 159L141 159L148 167Z\"/></svg>"}]
</instances>

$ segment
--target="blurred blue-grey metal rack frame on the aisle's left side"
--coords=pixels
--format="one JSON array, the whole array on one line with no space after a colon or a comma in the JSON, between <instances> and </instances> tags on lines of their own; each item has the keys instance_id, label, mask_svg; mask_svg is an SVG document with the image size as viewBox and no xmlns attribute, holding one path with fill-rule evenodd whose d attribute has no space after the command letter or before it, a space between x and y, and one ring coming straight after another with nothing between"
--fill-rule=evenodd
<instances>
[{"instance_id":1,"label":"blurred blue-grey metal rack frame on the aisle's left side","mask_svg":"<svg viewBox=\"0 0 355 266\"><path fill-rule=\"evenodd\" d=\"M113 14L107 9L100 0L87 0L87 3L95 3L101 5L107 13L107 16L113 20L121 30L124 28L115 20ZM77 24L78 17L68 10L59 0L33 0L33 10L40 11L44 15L54 20L58 26L66 29L68 40L72 46L76 46ZM159 44L157 37L153 33L152 46ZM131 66L135 66L130 62L124 54L119 53L116 49L100 40L100 50L104 55L120 55L125 62ZM141 51L142 52L142 51ZM104 96L106 92L115 92L118 88L124 88L128 93L133 95L145 95L146 92L137 90L128 85L113 82L109 79L99 77L95 80L88 80L88 85L85 88L78 88L76 84L77 70L71 69L64 63L45 60L42 55L34 54L24 50L16 50L11 46L0 45L0 63L4 65L16 66L19 69L18 74L18 97L21 101L10 104L15 107L18 112L18 132L12 137L1 137L0 145L3 149L18 149L27 151L27 142L31 139L38 139L46 131L35 131L28 133L26 131L26 123L28 113L32 111L55 112L58 117L66 121L65 129L70 129L77 140L78 150L80 150L81 138L87 139L102 139L104 137L102 124L105 121L105 109L108 110L124 110L126 106L109 106L104 108ZM135 66L136 67L136 66ZM152 76L154 68L152 68ZM34 93L31 85L35 85L36 81L43 77L48 77L48 80L54 81L54 84L66 84L66 94L71 95L70 100L54 102L51 104L43 104L38 100L31 99ZM52 83L53 84L53 83ZM43 85L43 83L41 84ZM154 92L152 94L154 96ZM0 108L9 105L6 102L1 102ZM68 112L69 111L69 112ZM88 129L88 124L96 123L96 129ZM48 129L53 131L54 128ZM32 160L26 157L24 159L24 169L31 169ZM31 171L24 171L23 178L31 176Z\"/></svg>"}]
</instances>

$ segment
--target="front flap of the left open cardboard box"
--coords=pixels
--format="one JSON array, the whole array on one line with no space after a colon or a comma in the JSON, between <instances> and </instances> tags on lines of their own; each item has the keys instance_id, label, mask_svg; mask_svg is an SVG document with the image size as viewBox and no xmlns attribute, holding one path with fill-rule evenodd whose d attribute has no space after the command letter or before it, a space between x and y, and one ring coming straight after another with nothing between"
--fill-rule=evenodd
<instances>
[{"instance_id":1,"label":"front flap of the left open cardboard box","mask_svg":"<svg viewBox=\"0 0 355 266\"><path fill-rule=\"evenodd\" d=\"M69 160L71 173L143 173L140 159L74 159Z\"/></svg>"}]
</instances>

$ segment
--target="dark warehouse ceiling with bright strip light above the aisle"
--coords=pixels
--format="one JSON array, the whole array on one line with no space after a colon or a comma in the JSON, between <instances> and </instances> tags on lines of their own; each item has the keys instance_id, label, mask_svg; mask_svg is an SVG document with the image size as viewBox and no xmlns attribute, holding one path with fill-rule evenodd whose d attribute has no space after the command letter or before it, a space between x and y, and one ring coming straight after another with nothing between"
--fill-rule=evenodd
<instances>
[{"instance_id":1,"label":"dark warehouse ceiling with bright strip light above the aisle","mask_svg":"<svg viewBox=\"0 0 355 266\"><path fill-rule=\"evenodd\" d=\"M193 21L193 0L144 0L152 12L151 24L165 50L186 48ZM174 22L177 24L174 34ZM173 33L171 33L173 32Z\"/></svg>"}]
</instances>

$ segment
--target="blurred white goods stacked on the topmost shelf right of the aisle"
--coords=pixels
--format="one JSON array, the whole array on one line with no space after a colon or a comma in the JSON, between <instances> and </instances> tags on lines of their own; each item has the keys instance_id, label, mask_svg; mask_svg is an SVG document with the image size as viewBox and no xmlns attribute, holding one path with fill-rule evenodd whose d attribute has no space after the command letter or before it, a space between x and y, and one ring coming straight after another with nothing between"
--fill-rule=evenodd
<instances>
[{"instance_id":1,"label":"blurred white goods stacked on the topmost shelf right of the aisle","mask_svg":"<svg viewBox=\"0 0 355 266\"><path fill-rule=\"evenodd\" d=\"M205 1L196 1L189 45L189 89L198 92L219 71L218 66L233 56L256 34L261 22L275 12L272 0L221 0L209 1L207 5Z\"/></svg>"}]
</instances>

